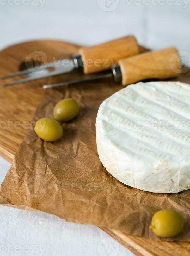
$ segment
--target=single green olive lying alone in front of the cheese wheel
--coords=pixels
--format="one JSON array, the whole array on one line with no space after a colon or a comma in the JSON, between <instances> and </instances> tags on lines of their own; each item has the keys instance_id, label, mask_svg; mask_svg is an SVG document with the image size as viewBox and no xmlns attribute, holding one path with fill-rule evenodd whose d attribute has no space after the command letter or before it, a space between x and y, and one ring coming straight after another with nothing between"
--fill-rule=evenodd
<instances>
[{"instance_id":1,"label":"single green olive lying alone in front of the cheese wheel","mask_svg":"<svg viewBox=\"0 0 190 256\"><path fill-rule=\"evenodd\" d=\"M172 237L181 232L185 221L181 214L173 210L161 210L154 214L150 228L161 237Z\"/></svg>"}]
</instances>

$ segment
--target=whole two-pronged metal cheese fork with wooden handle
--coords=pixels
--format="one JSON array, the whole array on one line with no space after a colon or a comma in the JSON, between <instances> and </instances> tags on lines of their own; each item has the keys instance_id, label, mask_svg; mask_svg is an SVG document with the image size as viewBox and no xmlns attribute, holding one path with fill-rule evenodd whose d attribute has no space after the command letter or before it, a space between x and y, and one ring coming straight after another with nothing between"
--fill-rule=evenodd
<instances>
[{"instance_id":1,"label":"whole two-pronged metal cheese fork with wooden handle","mask_svg":"<svg viewBox=\"0 0 190 256\"><path fill-rule=\"evenodd\" d=\"M81 47L78 54L73 55L73 59L63 59L59 64L57 64L56 61L49 62L40 65L37 69L34 69L33 67L24 69L23 71L6 75L1 79L4 80L20 75L28 76L24 79L4 84L4 87L6 87L41 78L61 75L71 72L73 69L81 70L84 74L91 74L110 69L119 59L138 53L139 47L136 39L133 36L127 36L92 47ZM48 69L53 70L48 71Z\"/></svg>"}]
</instances>

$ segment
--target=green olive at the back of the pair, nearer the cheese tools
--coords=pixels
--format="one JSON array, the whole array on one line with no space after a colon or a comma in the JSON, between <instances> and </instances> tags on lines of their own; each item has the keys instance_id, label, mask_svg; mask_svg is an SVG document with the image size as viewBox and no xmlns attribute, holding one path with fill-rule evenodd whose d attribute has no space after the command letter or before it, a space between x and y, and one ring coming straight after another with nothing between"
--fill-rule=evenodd
<instances>
[{"instance_id":1,"label":"green olive at the back of the pair, nearer the cheese tools","mask_svg":"<svg viewBox=\"0 0 190 256\"><path fill-rule=\"evenodd\" d=\"M67 122L75 118L78 112L77 102L72 98L68 98L57 103L53 110L53 116L59 122Z\"/></svg>"}]
</instances>

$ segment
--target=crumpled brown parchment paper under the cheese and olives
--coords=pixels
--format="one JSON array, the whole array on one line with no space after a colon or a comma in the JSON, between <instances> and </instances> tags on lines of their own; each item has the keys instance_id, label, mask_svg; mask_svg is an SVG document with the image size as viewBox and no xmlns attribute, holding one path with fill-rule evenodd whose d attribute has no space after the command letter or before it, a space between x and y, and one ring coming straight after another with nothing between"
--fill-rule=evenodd
<instances>
[{"instance_id":1,"label":"crumpled brown parchment paper under the cheese and olives","mask_svg":"<svg viewBox=\"0 0 190 256\"><path fill-rule=\"evenodd\" d=\"M120 89L107 79L47 90L32 123L53 117L53 107L62 98L75 98L80 112L63 124L63 137L57 142L44 142L33 129L28 131L1 185L0 203L154 240L161 238L149 229L152 215L174 209L186 224L180 235L168 240L190 241L189 190L177 194L141 191L117 181L99 160L97 111L105 98Z\"/></svg>"}]
</instances>

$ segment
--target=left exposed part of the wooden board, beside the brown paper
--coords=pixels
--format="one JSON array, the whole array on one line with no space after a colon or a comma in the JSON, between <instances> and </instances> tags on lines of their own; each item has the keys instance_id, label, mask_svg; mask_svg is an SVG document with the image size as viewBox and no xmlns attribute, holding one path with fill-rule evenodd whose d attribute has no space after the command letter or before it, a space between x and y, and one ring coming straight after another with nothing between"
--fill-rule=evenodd
<instances>
[{"instance_id":1,"label":"left exposed part of the wooden board, beside the brown paper","mask_svg":"<svg viewBox=\"0 0 190 256\"><path fill-rule=\"evenodd\" d=\"M58 56L73 54L79 46L57 41L36 41L11 46L0 52L0 76L19 71L25 61L40 56L41 62L53 61ZM66 52L66 53L65 53ZM15 79L16 80L16 79ZM6 82L13 81L7 79ZM23 141L36 107L44 93L43 84L48 79L4 88L0 80L0 154L12 161L20 143Z\"/></svg>"}]
</instances>

